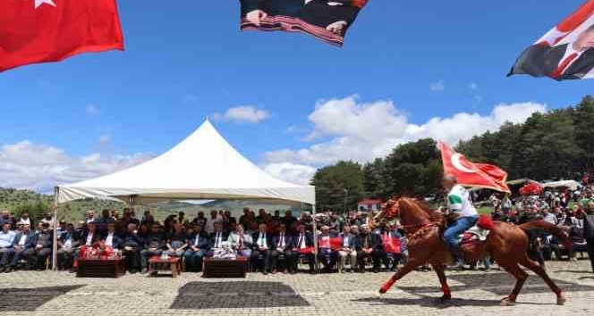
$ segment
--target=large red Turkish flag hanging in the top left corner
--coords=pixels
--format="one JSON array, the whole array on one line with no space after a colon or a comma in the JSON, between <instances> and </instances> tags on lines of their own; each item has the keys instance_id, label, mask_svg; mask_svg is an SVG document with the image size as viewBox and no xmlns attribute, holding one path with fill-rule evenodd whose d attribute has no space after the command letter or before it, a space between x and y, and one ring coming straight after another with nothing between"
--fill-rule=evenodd
<instances>
[{"instance_id":1,"label":"large red Turkish flag hanging in the top left corner","mask_svg":"<svg viewBox=\"0 0 594 316\"><path fill-rule=\"evenodd\" d=\"M0 71L123 50L115 0L1 0Z\"/></svg>"}]
</instances>

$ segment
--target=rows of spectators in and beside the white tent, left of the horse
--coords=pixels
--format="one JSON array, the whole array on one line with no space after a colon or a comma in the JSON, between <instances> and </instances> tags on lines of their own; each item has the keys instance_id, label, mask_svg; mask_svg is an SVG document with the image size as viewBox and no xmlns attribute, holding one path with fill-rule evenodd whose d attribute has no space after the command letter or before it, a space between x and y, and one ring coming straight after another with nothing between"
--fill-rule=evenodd
<instances>
[{"instance_id":1,"label":"rows of spectators in and beside the white tent, left of the horse","mask_svg":"<svg viewBox=\"0 0 594 316\"><path fill-rule=\"evenodd\" d=\"M51 213L31 229L28 214L15 220L9 211L0 214L0 269L44 270L51 266L53 223ZM100 217L88 211L78 227L61 221L57 228L57 265L60 270L76 270L81 250L100 243L122 254L131 273L147 273L148 260L167 254L180 257L186 270L202 270L204 258L217 248L231 247L250 262L251 270L264 274L297 273L300 262L317 273L322 271L360 271L372 267L396 270L405 254L402 231L391 225L371 231L361 212L339 217L326 211L314 219L308 212L300 218L291 211L280 215L259 210L258 215L244 209L239 220L230 212L204 212L189 220L183 212L168 216L163 223L147 211L138 219L132 209L104 210ZM315 223L315 224L314 224ZM312 229L318 229L318 251Z\"/></svg>"}]
</instances>

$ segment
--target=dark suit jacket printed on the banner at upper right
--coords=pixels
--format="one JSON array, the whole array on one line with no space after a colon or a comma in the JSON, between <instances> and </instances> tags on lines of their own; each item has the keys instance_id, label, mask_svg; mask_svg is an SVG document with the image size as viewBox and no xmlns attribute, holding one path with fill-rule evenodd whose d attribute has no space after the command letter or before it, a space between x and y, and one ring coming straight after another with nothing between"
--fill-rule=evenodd
<instances>
[{"instance_id":1,"label":"dark suit jacket printed on the banner at upper right","mask_svg":"<svg viewBox=\"0 0 594 316\"><path fill-rule=\"evenodd\" d=\"M528 47L508 75L529 74L534 77L550 76L559 67L567 46L533 45ZM594 68L594 49L588 49L567 67L556 79L581 79Z\"/></svg>"}]
</instances>

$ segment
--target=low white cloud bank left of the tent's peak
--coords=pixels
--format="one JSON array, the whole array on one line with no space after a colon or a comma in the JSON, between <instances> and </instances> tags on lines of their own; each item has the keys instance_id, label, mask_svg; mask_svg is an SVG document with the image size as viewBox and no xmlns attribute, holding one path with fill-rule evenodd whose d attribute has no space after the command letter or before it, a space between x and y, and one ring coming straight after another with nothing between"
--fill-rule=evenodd
<instances>
[{"instance_id":1,"label":"low white cloud bank left of the tent's peak","mask_svg":"<svg viewBox=\"0 0 594 316\"><path fill-rule=\"evenodd\" d=\"M92 179L147 161L147 154L89 154L75 157L63 149L24 140L0 147L0 187L49 193L58 184Z\"/></svg>"}]
</instances>

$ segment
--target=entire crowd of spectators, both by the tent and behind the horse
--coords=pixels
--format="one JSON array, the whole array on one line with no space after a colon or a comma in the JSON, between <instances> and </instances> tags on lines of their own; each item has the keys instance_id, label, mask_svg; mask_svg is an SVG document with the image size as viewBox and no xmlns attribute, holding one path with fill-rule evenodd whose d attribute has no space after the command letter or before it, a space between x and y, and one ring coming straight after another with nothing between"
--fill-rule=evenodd
<instances>
[{"instance_id":1,"label":"entire crowd of spectators, both by the tent and behind the horse","mask_svg":"<svg viewBox=\"0 0 594 316\"><path fill-rule=\"evenodd\" d=\"M513 224L547 220L562 227L573 241L573 252L556 237L542 231L530 235L530 256L544 266L547 260L576 260L576 253L589 254L594 270L594 190L578 195L564 191L548 195L510 199L493 195L492 217ZM267 273L297 273L299 268L318 272L365 272L397 270L407 259L407 238L397 222L369 227L365 212L338 215L329 210L312 216L301 212L257 213L244 209L239 219L231 212L198 212L188 218L183 212L163 221L146 211L137 217L131 208L88 211L79 225L60 221L57 227L57 268L75 270L81 248L101 243L112 247L131 273L147 273L148 260L166 254L180 257L188 271L202 270L204 258L216 249L231 247L247 257L250 269ZM55 220L50 212L34 222L24 212L16 219L9 211L0 213L0 271L44 270L51 267ZM314 229L316 234L314 234ZM318 242L314 243L314 236ZM314 246L318 245L318 248ZM565 259L566 258L566 259ZM472 269L481 263L467 262Z\"/></svg>"}]
</instances>

